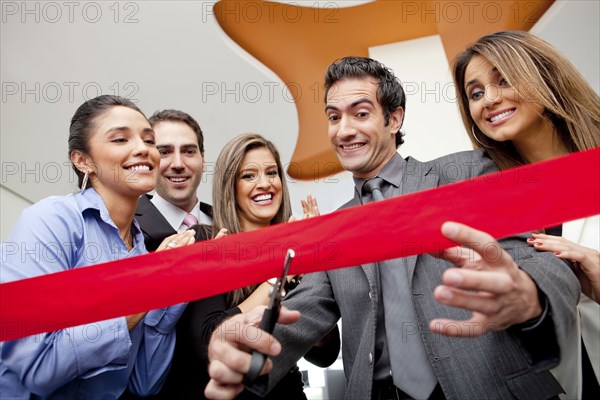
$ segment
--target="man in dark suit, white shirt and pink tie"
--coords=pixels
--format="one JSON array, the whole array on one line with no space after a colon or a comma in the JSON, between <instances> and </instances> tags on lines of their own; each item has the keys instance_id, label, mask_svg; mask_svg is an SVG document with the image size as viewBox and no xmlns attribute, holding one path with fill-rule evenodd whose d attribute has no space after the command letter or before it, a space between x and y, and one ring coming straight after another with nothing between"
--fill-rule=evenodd
<instances>
[{"instance_id":1,"label":"man in dark suit, white shirt and pink tie","mask_svg":"<svg viewBox=\"0 0 600 400\"><path fill-rule=\"evenodd\" d=\"M149 121L156 132L160 173L155 194L140 198L135 218L146 248L154 251L164 238L194 222L210 225L212 207L200 202L197 195L206 166L204 136L198 122L177 110L157 111Z\"/></svg>"}]
</instances>

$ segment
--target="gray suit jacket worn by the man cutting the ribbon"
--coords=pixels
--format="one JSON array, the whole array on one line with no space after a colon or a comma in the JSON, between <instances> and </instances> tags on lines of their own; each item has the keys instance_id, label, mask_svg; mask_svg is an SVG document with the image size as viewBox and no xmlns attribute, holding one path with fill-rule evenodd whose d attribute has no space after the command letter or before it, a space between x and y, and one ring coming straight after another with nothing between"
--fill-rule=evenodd
<instances>
[{"instance_id":1,"label":"gray suit jacket worn by the man cutting the ribbon","mask_svg":"<svg viewBox=\"0 0 600 400\"><path fill-rule=\"evenodd\" d=\"M452 154L426 163L408 158L403 192L433 188L495 170L481 151ZM355 196L344 207L358 204ZM403 240L410 237L399 238L399 246L415 245ZM574 324L579 283L565 263L552 254L537 253L523 237L501 243L548 301L548 315L530 331L511 327L469 339L432 334L428 324L434 318L470 318L470 312L439 304L433 298L442 273L452 264L428 254L403 260L411 280L421 337L447 399L545 399L562 392L548 368L558 362L558 345L565 342ZM302 317L296 324L277 325L275 329L283 351L274 359L268 386L272 387L282 372L289 370L341 317L346 398L371 398L379 290L374 265L307 275L284 301L287 308L299 310Z\"/></svg>"}]
</instances>

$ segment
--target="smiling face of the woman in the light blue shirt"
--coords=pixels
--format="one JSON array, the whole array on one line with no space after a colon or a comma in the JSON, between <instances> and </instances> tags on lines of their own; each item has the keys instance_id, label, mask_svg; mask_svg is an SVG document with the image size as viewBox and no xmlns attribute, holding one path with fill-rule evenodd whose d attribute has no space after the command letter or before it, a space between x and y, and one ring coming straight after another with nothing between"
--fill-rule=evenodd
<instances>
[{"instance_id":1,"label":"smiling face of the woman in the light blue shirt","mask_svg":"<svg viewBox=\"0 0 600 400\"><path fill-rule=\"evenodd\" d=\"M154 188L160 161L154 140L146 118L128 107L111 107L94 121L86 169L105 202L111 196L137 201Z\"/></svg>"}]
</instances>

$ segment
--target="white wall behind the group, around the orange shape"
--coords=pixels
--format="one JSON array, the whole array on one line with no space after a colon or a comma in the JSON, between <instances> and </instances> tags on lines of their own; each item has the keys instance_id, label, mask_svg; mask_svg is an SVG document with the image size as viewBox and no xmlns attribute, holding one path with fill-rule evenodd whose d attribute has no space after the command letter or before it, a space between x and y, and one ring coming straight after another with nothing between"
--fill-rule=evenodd
<instances>
[{"instance_id":1,"label":"white wall behind the group, around the orange shape","mask_svg":"<svg viewBox=\"0 0 600 400\"><path fill-rule=\"evenodd\" d=\"M222 146L243 132L270 138L289 162L298 134L294 104L281 80L221 31L214 0L76 3L72 15L64 2L1 3L2 240L28 202L76 190L66 154L69 120L96 94L129 95L147 114L167 107L189 112L206 132L209 169ZM597 1L557 1L534 28L596 88L598 7ZM407 84L403 156L426 160L468 148L439 38L377 46L370 54ZM210 201L210 186L209 171L202 199ZM297 215L308 193L318 196L323 212L352 195L347 173L290 186Z\"/></svg>"}]
</instances>

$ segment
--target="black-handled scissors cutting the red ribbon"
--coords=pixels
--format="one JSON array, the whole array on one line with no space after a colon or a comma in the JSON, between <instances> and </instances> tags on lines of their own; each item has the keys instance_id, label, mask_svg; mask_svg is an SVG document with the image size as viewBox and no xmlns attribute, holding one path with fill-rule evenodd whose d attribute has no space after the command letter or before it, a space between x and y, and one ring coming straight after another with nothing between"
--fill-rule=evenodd
<instances>
[{"instance_id":1,"label":"black-handled scissors cutting the red ribbon","mask_svg":"<svg viewBox=\"0 0 600 400\"><path fill-rule=\"evenodd\" d=\"M281 300L285 296L283 284L286 281L286 276L288 275L290 264L292 263L292 258L294 258L295 256L296 253L294 253L294 250L288 249L287 254L285 256L285 262L283 264L283 273L279 278L277 278L275 284L271 288L271 293L269 295L269 307L265 310L265 313L263 314L259 325L259 328L265 332L272 333L273 329L275 328L275 324L277 323L277 319L279 318ZM265 362L267 362L266 355L256 350L252 352L250 369L244 377L244 385L251 386L254 383L256 378L258 378L260 371L262 371Z\"/></svg>"}]
</instances>

